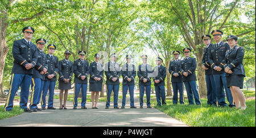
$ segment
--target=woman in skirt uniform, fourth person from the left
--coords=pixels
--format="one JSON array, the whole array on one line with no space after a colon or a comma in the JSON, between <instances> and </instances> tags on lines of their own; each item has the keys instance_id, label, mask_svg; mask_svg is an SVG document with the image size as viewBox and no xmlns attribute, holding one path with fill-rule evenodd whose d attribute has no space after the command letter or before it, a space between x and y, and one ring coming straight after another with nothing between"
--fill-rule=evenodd
<instances>
[{"instance_id":1,"label":"woman in skirt uniform, fourth person from the left","mask_svg":"<svg viewBox=\"0 0 256 138\"><path fill-rule=\"evenodd\" d=\"M73 62L68 60L71 55L70 51L65 51L64 56L65 59L59 62L59 89L60 89L60 108L59 109L67 109L66 102L68 98L68 90L71 89L71 80L73 75ZM64 103L62 104L63 99L63 91L64 94Z\"/></svg>"}]
</instances>

